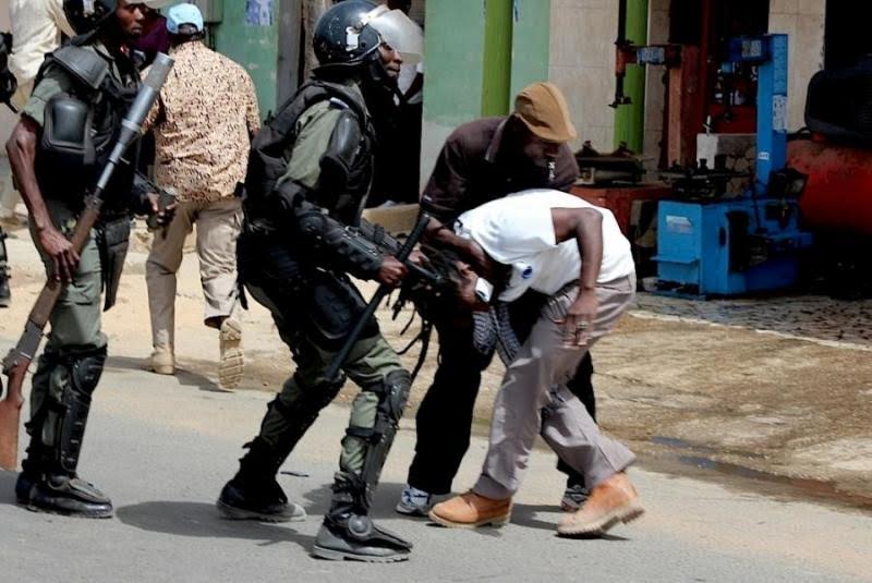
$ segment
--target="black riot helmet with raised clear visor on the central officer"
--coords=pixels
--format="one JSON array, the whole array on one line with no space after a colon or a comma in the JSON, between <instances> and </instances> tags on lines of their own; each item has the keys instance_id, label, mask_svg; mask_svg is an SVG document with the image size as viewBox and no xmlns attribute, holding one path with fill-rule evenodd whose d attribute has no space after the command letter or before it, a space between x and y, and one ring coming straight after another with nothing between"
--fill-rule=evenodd
<instances>
[{"instance_id":1,"label":"black riot helmet with raised clear visor on the central officer","mask_svg":"<svg viewBox=\"0 0 872 583\"><path fill-rule=\"evenodd\" d=\"M385 81L378 47L390 45L403 61L415 63L423 53L421 29L401 11L368 0L344 0L327 10L312 38L320 72L360 70L373 81Z\"/></svg>"}]
</instances>

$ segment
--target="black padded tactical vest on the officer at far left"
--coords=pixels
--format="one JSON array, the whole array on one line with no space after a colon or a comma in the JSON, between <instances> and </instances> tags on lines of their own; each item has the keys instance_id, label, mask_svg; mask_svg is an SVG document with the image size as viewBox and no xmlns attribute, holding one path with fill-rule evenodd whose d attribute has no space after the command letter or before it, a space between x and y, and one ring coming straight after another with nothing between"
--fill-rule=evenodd
<instances>
[{"instance_id":1,"label":"black padded tactical vest on the officer at far left","mask_svg":"<svg viewBox=\"0 0 872 583\"><path fill-rule=\"evenodd\" d=\"M126 63L120 63L122 66ZM138 73L130 63L122 85L109 63L95 51L66 45L46 58L36 83L50 68L62 69L73 82L49 99L36 154L36 175L46 198L76 207L94 187L111 154L121 121L138 90ZM106 189L104 216L122 212L130 201L138 148L133 147Z\"/></svg>"}]
</instances>

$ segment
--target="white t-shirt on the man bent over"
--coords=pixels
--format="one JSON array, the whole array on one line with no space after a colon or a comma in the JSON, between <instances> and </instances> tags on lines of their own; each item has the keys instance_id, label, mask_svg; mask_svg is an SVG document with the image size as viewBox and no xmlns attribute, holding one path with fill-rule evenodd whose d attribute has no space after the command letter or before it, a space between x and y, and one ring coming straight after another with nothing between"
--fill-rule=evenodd
<instances>
[{"instance_id":1,"label":"white t-shirt on the man bent over","mask_svg":"<svg viewBox=\"0 0 872 583\"><path fill-rule=\"evenodd\" d=\"M511 302L528 289L553 294L579 279L578 241L557 244L553 208L593 208L603 215L603 262L597 283L635 270L630 242L610 210L561 191L524 191L473 208L455 223L458 235L479 243L495 262L511 266L509 284L500 300Z\"/></svg>"}]
</instances>

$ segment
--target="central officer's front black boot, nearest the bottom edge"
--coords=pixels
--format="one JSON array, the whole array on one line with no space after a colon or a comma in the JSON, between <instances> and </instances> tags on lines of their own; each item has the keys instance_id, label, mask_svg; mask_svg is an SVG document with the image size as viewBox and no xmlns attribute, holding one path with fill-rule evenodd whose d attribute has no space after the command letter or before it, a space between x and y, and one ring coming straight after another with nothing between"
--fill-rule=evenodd
<instances>
[{"instance_id":1,"label":"central officer's front black boot, nearest the bottom edge","mask_svg":"<svg viewBox=\"0 0 872 583\"><path fill-rule=\"evenodd\" d=\"M412 544L377 526L365 505L358 502L341 491L334 495L312 555L319 559L364 562L408 560Z\"/></svg>"}]
</instances>

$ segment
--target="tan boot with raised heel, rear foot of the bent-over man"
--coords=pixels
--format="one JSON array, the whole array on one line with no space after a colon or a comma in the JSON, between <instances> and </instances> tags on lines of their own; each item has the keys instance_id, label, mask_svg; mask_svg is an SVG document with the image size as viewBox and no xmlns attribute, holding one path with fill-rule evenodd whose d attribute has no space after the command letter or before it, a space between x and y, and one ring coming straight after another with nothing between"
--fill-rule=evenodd
<instances>
[{"instance_id":1,"label":"tan boot with raised heel, rear foot of the bent-over man","mask_svg":"<svg viewBox=\"0 0 872 583\"><path fill-rule=\"evenodd\" d=\"M604 534L618 522L630 522L642 515L639 494L623 472L617 473L591 490L582 507L565 514L557 525L564 536Z\"/></svg>"}]
</instances>

